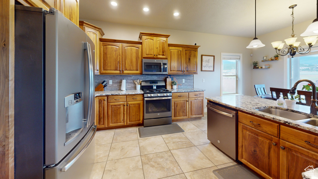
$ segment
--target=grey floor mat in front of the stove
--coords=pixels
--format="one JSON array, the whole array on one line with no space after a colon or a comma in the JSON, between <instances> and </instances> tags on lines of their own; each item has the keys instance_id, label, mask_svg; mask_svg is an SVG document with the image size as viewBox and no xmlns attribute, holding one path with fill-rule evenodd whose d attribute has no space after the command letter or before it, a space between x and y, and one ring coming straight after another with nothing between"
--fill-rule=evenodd
<instances>
[{"instance_id":1,"label":"grey floor mat in front of the stove","mask_svg":"<svg viewBox=\"0 0 318 179\"><path fill-rule=\"evenodd\" d=\"M167 124L167 125L156 125L150 127L139 127L138 133L139 137L152 137L157 135L164 135L164 134L173 134L184 132L184 130L177 124Z\"/></svg>"}]
</instances>

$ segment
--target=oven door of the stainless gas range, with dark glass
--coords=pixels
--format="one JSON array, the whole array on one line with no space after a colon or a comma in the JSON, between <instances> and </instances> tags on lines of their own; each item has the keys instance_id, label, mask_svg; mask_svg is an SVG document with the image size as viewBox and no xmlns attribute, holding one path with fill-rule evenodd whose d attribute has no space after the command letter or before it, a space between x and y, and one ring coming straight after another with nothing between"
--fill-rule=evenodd
<instances>
[{"instance_id":1,"label":"oven door of the stainless gas range, with dark glass","mask_svg":"<svg viewBox=\"0 0 318 179\"><path fill-rule=\"evenodd\" d=\"M172 97L144 98L144 119L172 116Z\"/></svg>"}]
</instances>

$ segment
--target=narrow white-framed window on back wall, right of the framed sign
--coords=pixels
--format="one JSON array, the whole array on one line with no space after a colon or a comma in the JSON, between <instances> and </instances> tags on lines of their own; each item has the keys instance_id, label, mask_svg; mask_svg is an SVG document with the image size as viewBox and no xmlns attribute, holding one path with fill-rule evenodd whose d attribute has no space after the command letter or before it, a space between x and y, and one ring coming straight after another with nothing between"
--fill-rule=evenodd
<instances>
[{"instance_id":1,"label":"narrow white-framed window on back wall, right of the framed sign","mask_svg":"<svg viewBox=\"0 0 318 179\"><path fill-rule=\"evenodd\" d=\"M221 94L232 95L241 93L241 57L242 54L221 53Z\"/></svg>"}]
</instances>

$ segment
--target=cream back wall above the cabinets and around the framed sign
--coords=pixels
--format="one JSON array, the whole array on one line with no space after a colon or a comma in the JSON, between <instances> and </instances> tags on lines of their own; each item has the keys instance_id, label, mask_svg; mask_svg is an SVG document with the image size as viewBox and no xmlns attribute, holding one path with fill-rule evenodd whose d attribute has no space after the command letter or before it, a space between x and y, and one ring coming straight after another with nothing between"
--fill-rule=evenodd
<instances>
[{"instance_id":1,"label":"cream back wall above the cabinets and around the framed sign","mask_svg":"<svg viewBox=\"0 0 318 179\"><path fill-rule=\"evenodd\" d=\"M103 29L106 39L122 39L122 40L140 40L138 39L140 32L153 32L169 34L168 43L194 45L197 43L198 49L198 74L194 75L194 87L205 89L205 97L220 96L220 62L221 52L224 53L240 53L243 54L243 94L254 96L254 89L250 88L251 83L251 49L246 46L252 39L215 35L207 33L186 32L171 29L152 28L136 25L123 25L102 21L93 21L80 19L96 25ZM214 72L201 71L201 54L215 55ZM202 82L205 79L205 82ZM205 101L206 103L206 101ZM205 106L205 105L204 105Z\"/></svg>"}]
</instances>

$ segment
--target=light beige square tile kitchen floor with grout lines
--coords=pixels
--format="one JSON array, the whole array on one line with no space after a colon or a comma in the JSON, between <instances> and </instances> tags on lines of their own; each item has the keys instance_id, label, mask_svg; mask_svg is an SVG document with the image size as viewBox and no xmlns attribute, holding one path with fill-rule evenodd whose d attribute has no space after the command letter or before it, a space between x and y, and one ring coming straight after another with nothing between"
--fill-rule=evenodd
<instances>
[{"instance_id":1,"label":"light beige square tile kitchen floor with grout lines","mask_svg":"<svg viewBox=\"0 0 318 179\"><path fill-rule=\"evenodd\" d=\"M90 179L218 179L237 164L207 139L207 114L176 122L184 132L140 138L138 127L97 131Z\"/></svg>"}]
</instances>

